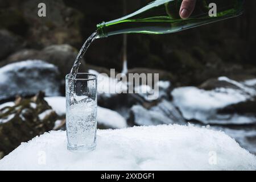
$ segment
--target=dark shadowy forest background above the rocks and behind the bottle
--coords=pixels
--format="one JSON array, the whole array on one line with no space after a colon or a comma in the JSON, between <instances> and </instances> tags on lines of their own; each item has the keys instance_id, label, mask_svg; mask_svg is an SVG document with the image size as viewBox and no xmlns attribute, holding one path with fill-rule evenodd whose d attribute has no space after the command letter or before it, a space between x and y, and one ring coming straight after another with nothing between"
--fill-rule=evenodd
<instances>
[{"instance_id":1,"label":"dark shadowy forest background above the rocks and behind the bottle","mask_svg":"<svg viewBox=\"0 0 256 182\"><path fill-rule=\"evenodd\" d=\"M125 1L125 0L124 0ZM38 3L47 5L47 17L37 16ZM127 13L151 1L127 0ZM256 75L256 2L247 0L245 13L233 19L167 35L128 35L128 68L167 71L176 86L199 85L217 76L236 80ZM0 41L0 65L19 49L43 49L69 44L80 49L96 24L123 15L123 1L57 0L0 1L0 28L12 34ZM85 55L86 63L122 69L123 36L97 40ZM69 60L72 62L72 60ZM66 72L71 68L68 64Z\"/></svg>"}]
</instances>

